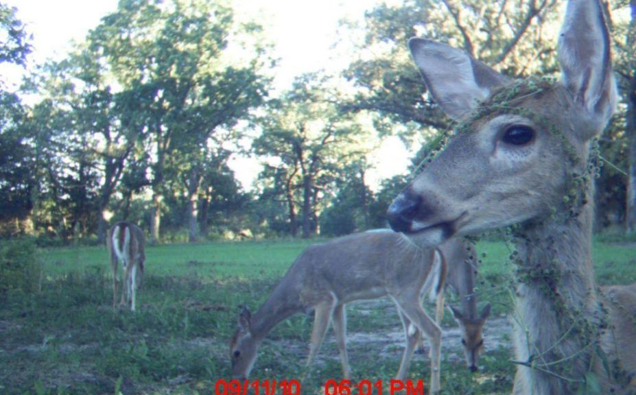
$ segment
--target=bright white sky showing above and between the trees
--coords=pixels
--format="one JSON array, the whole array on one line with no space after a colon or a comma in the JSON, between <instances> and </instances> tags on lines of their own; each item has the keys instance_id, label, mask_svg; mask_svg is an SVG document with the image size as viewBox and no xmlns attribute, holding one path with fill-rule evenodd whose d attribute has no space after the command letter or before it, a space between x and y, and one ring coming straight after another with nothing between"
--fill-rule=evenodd
<instances>
[{"instance_id":1,"label":"bright white sky showing above and between the trees","mask_svg":"<svg viewBox=\"0 0 636 395\"><path fill-rule=\"evenodd\" d=\"M239 17L261 23L276 45L280 58L276 69L277 86L289 86L294 76L318 69L335 71L346 66L349 58L335 52L338 21L347 17L362 20L364 10L379 0L233 0ZM18 8L18 17L33 35L33 53L29 67L49 58L63 58L73 40L81 41L100 19L117 10L117 0L5 0ZM341 38L346 40L346 37ZM3 78L19 82L24 73L20 67L2 67ZM370 181L405 171L408 154L397 139L388 139L374 155L380 163L370 172ZM385 159L383 159L385 158ZM396 160L400 158L400 160ZM254 158L236 156L231 167L244 187L250 188L259 169ZM372 185L375 187L375 185Z\"/></svg>"}]
</instances>

